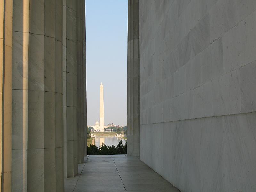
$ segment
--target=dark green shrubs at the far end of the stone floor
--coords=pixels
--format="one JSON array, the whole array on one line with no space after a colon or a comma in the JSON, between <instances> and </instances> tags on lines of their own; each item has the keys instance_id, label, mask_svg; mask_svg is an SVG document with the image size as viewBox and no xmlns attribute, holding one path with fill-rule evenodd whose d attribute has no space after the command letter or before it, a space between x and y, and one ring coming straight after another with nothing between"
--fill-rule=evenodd
<instances>
[{"instance_id":1,"label":"dark green shrubs at the far end of the stone floor","mask_svg":"<svg viewBox=\"0 0 256 192\"><path fill-rule=\"evenodd\" d=\"M95 145L87 146L88 155L116 155L116 154L126 154L127 153L127 143L123 143L123 140L120 140L118 145L108 146L103 143L98 149Z\"/></svg>"}]
</instances>

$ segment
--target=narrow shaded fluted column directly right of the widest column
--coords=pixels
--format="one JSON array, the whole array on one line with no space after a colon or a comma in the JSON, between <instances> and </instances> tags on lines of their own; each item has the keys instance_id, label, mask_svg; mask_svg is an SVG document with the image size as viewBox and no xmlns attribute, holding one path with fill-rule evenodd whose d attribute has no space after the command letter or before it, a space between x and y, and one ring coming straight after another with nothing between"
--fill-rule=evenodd
<instances>
[{"instance_id":1,"label":"narrow shaded fluted column directly right of the widest column","mask_svg":"<svg viewBox=\"0 0 256 192\"><path fill-rule=\"evenodd\" d=\"M73 177L78 172L76 1L64 1L63 9L64 173Z\"/></svg>"}]
</instances>

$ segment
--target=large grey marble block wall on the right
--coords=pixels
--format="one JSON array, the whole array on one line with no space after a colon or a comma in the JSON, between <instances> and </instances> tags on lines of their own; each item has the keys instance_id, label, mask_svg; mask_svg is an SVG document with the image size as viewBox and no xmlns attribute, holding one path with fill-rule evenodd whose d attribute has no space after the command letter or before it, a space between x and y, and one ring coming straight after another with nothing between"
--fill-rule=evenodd
<instances>
[{"instance_id":1,"label":"large grey marble block wall on the right","mask_svg":"<svg viewBox=\"0 0 256 192\"><path fill-rule=\"evenodd\" d=\"M256 2L140 0L140 158L181 191L256 191Z\"/></svg>"}]
</instances>

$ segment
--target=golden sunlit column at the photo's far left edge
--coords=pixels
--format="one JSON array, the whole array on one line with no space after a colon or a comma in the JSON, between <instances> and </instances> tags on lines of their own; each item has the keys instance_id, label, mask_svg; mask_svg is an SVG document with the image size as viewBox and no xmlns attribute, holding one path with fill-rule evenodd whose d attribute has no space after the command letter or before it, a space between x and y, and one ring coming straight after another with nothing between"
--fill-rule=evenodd
<instances>
[{"instance_id":1,"label":"golden sunlit column at the photo's far left edge","mask_svg":"<svg viewBox=\"0 0 256 192\"><path fill-rule=\"evenodd\" d=\"M12 0L0 0L0 169L2 192L11 192L12 171Z\"/></svg>"}]
</instances>

